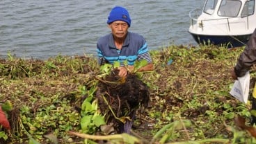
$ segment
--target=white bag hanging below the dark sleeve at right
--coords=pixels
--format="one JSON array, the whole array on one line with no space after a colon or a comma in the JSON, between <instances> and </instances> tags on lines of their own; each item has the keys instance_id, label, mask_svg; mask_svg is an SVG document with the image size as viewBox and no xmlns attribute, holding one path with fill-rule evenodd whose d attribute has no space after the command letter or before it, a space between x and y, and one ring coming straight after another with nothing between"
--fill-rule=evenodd
<instances>
[{"instance_id":1,"label":"white bag hanging below the dark sleeve at right","mask_svg":"<svg viewBox=\"0 0 256 144\"><path fill-rule=\"evenodd\" d=\"M243 77L238 77L230 91L230 94L241 102L247 103L250 89L250 73L249 71Z\"/></svg>"}]
</instances>

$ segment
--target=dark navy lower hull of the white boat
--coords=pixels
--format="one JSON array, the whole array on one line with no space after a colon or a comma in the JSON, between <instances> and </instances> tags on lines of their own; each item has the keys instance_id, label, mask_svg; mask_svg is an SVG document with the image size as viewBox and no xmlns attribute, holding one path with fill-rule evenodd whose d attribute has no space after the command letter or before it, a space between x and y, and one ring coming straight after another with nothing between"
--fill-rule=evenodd
<instances>
[{"instance_id":1,"label":"dark navy lower hull of the white boat","mask_svg":"<svg viewBox=\"0 0 256 144\"><path fill-rule=\"evenodd\" d=\"M191 33L193 39L198 44L213 44L218 46L227 46L227 48L234 48L244 46L250 39L250 35L198 35Z\"/></svg>"}]
</instances>

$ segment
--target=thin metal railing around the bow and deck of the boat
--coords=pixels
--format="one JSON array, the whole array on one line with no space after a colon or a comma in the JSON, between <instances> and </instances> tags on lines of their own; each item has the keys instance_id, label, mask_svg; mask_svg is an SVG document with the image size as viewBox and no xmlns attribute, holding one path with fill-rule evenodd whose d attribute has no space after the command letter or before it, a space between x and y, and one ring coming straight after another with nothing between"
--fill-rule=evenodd
<instances>
[{"instance_id":1,"label":"thin metal railing around the bow and deck of the boat","mask_svg":"<svg viewBox=\"0 0 256 144\"><path fill-rule=\"evenodd\" d=\"M201 14L202 14L202 10L199 9L199 8L191 10L191 12L189 12L189 17L191 19L191 26L192 27L194 26L194 24L196 24L198 22L198 17ZM245 17L246 17L247 29L249 29L249 17L248 16L245 16ZM200 20L199 25L203 30L203 26L204 26L203 21L216 21L216 20L226 19L227 20L227 26L228 26L228 29L230 31L230 19L245 18L245 17L223 17L223 18L216 18L216 19L204 19L204 20Z\"/></svg>"}]
</instances>

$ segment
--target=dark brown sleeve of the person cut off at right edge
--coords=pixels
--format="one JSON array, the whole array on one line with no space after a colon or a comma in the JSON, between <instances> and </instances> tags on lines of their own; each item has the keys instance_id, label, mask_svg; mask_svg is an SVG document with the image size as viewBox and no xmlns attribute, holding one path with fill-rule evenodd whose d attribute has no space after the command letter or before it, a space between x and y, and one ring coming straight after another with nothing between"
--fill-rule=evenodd
<instances>
[{"instance_id":1,"label":"dark brown sleeve of the person cut off at right edge","mask_svg":"<svg viewBox=\"0 0 256 144\"><path fill-rule=\"evenodd\" d=\"M241 53L239 59L237 60L237 65L234 66L234 72L238 77L241 77L250 70L250 67L256 63L256 29L251 35L246 48L243 53Z\"/></svg>"}]
</instances>

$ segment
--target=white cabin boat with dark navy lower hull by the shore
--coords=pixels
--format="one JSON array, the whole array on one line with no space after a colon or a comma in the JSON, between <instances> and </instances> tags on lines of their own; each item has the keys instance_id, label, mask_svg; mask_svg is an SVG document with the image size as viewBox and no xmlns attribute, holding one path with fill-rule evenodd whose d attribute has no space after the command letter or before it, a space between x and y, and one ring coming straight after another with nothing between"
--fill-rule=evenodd
<instances>
[{"instance_id":1,"label":"white cabin boat with dark navy lower hull by the shore","mask_svg":"<svg viewBox=\"0 0 256 144\"><path fill-rule=\"evenodd\" d=\"M255 0L206 0L189 17L189 33L198 44L243 46L256 28Z\"/></svg>"}]
</instances>

